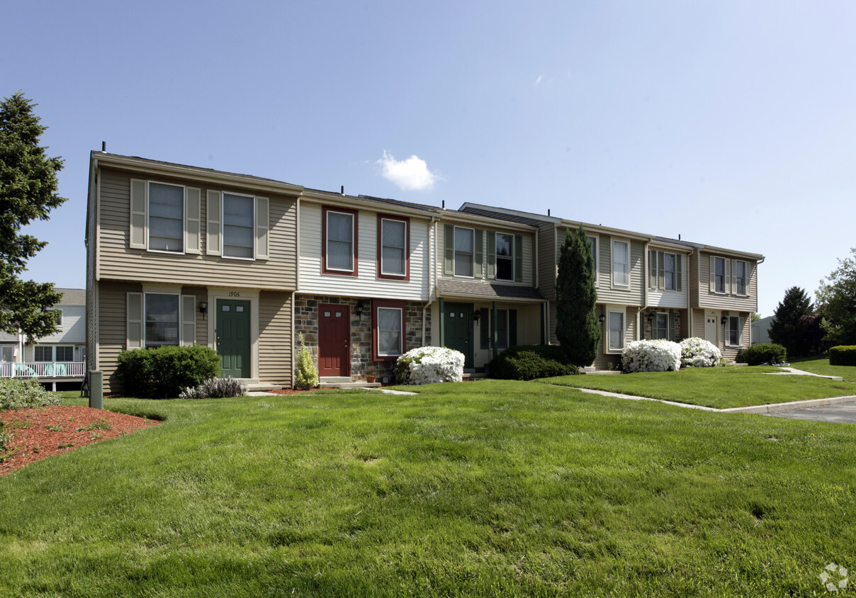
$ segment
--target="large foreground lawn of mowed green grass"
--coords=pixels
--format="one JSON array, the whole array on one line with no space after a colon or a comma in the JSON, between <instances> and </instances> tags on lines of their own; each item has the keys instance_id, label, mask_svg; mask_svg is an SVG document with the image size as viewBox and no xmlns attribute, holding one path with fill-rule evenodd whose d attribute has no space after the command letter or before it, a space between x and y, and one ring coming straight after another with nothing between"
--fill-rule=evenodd
<instances>
[{"instance_id":1,"label":"large foreground lawn of mowed green grass","mask_svg":"<svg viewBox=\"0 0 856 598\"><path fill-rule=\"evenodd\" d=\"M854 565L856 427L419 390L105 400L166 419L0 478L0 595L812 595Z\"/></svg>"}]
</instances>

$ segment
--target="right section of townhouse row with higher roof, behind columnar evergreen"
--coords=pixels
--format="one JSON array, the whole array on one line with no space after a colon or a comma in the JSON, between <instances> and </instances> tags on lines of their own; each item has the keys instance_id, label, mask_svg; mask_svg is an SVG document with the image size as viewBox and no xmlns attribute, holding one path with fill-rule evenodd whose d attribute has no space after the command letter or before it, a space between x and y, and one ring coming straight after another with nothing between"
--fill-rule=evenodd
<instances>
[{"instance_id":1,"label":"right section of townhouse row with higher roof, behind columnar evergreen","mask_svg":"<svg viewBox=\"0 0 856 598\"><path fill-rule=\"evenodd\" d=\"M751 342L749 314L758 309L758 264L764 256L490 205L466 203L461 210L538 228L536 286L548 299L553 344L559 255L568 231L586 228L603 327L592 364L597 370L618 363L632 340L699 336L728 359Z\"/></svg>"}]
</instances>

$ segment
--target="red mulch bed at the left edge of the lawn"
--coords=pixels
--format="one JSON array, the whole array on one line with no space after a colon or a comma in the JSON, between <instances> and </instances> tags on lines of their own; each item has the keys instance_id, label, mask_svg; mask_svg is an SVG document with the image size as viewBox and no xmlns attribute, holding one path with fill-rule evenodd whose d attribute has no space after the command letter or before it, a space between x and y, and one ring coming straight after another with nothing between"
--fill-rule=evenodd
<instances>
[{"instance_id":1,"label":"red mulch bed at the left edge of the lawn","mask_svg":"<svg viewBox=\"0 0 856 598\"><path fill-rule=\"evenodd\" d=\"M56 453L160 423L114 411L59 405L0 411L0 420L6 424L3 431L12 436L6 452L0 450L0 476ZM110 429L102 429L108 426Z\"/></svg>"}]
</instances>

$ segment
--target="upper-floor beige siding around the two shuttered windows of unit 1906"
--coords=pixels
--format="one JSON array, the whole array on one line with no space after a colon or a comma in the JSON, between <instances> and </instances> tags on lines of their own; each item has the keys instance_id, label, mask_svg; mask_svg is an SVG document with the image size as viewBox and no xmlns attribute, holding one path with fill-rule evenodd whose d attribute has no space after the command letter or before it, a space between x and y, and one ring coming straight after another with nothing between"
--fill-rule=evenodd
<instances>
[{"instance_id":1,"label":"upper-floor beige siding around the two shuttered windows of unit 1906","mask_svg":"<svg viewBox=\"0 0 856 598\"><path fill-rule=\"evenodd\" d=\"M199 232L202 254L147 252L129 246L130 180L152 180L200 187L200 226L207 226L207 191L209 187L195 181L130 175L104 169L100 185L100 229L98 231L98 260L100 279L174 282L193 285L256 287L271 290L293 290L297 283L296 255L297 205L293 198L259 193L270 198L270 258L240 260L205 254L206 229ZM217 187L217 191L252 193L245 188L233 190Z\"/></svg>"}]
</instances>

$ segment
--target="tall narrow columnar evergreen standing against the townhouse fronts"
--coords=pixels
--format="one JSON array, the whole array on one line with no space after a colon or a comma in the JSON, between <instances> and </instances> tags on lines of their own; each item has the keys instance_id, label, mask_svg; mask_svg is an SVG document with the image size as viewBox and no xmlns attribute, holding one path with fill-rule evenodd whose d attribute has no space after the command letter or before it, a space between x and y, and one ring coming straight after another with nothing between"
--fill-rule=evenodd
<instances>
[{"instance_id":1,"label":"tall narrow columnar evergreen standing against the townhouse fronts","mask_svg":"<svg viewBox=\"0 0 856 598\"><path fill-rule=\"evenodd\" d=\"M600 325L597 323L594 259L586 229L568 231L556 276L556 337L568 360L591 365L597 357Z\"/></svg>"}]
</instances>

